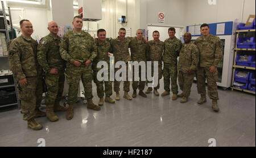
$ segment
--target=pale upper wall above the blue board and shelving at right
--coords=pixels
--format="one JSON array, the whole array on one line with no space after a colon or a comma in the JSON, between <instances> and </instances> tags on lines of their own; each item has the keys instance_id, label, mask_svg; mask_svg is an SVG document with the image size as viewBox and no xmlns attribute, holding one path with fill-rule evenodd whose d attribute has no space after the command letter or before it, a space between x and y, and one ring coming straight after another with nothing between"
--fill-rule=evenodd
<instances>
[{"instance_id":1,"label":"pale upper wall above the blue board and shelving at right","mask_svg":"<svg viewBox=\"0 0 256 158\"><path fill-rule=\"evenodd\" d=\"M216 5L209 5L208 0L186 0L185 25L198 23L229 22L239 19L241 22L243 0L216 0ZM255 15L255 0L245 0L242 22L250 14Z\"/></svg>"}]
</instances>

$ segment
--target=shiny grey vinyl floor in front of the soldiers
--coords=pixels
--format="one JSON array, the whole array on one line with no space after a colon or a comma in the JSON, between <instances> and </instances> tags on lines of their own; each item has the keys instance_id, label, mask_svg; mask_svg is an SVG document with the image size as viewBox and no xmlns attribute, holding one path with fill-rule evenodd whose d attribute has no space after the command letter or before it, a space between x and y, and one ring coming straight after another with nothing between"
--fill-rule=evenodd
<instances>
[{"instance_id":1,"label":"shiny grey vinyl floor in front of the soldiers","mask_svg":"<svg viewBox=\"0 0 256 158\"><path fill-rule=\"evenodd\" d=\"M163 80L160 87L162 93ZM0 109L0 146L36 147L42 144L40 138L46 146L207 147L210 138L216 140L216 146L255 146L255 95L221 88L218 94L220 112L215 113L209 98L203 105L196 103L200 96L195 83L186 104L179 103L180 99L172 101L171 95L152 93L146 99L137 96L127 101L121 91L121 100L105 103L98 112L80 101L71 121L65 119L65 112L57 113L57 122L36 118L44 127L40 131L28 129L18 109ZM98 103L95 84L93 95ZM46 110L44 105L42 110Z\"/></svg>"}]
</instances>

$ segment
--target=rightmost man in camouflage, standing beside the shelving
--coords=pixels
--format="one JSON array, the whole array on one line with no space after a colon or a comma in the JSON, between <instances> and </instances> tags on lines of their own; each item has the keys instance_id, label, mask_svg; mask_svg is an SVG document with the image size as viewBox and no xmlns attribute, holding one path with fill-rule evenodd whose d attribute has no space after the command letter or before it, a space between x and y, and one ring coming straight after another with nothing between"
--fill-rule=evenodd
<instances>
[{"instance_id":1,"label":"rightmost man in camouflage, standing beside the shelving","mask_svg":"<svg viewBox=\"0 0 256 158\"><path fill-rule=\"evenodd\" d=\"M209 25L201 25L200 36L196 39L195 45L199 48L199 66L196 71L197 80L197 91L201 95L198 104L205 103L206 91L205 91L205 78L207 79L208 85L208 96L212 99L212 109L214 112L218 112L220 109L217 105L218 100L218 89L217 89L217 79L218 79L218 63L223 58L222 44L219 37L211 35Z\"/></svg>"}]
</instances>

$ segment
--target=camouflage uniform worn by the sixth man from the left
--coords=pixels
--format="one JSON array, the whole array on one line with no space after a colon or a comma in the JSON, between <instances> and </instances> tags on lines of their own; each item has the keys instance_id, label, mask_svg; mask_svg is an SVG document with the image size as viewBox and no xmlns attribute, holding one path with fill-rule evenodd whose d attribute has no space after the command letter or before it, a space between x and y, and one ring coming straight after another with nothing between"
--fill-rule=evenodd
<instances>
[{"instance_id":1,"label":"camouflage uniform worn by the sixth man from the left","mask_svg":"<svg viewBox=\"0 0 256 158\"><path fill-rule=\"evenodd\" d=\"M133 39L130 42L130 48L131 48L131 61L133 62L137 61L138 63L143 61L146 63L147 43L146 41L144 41L144 39L142 39L141 41L138 41L137 37L133 37ZM139 66L138 72L134 71L134 66L132 69L133 69L133 91L136 91L138 88L140 91L143 91L145 88L146 80L145 81L141 80L141 74L142 73L146 74L146 70L145 72L142 72L141 66ZM134 80L135 73L138 74L139 76L139 82Z\"/></svg>"}]
</instances>

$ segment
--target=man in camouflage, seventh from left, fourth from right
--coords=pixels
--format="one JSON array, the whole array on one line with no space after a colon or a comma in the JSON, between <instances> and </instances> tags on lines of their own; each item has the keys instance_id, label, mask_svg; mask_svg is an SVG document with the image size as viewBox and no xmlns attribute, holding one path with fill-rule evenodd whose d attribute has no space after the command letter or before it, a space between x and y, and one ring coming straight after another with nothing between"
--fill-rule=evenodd
<instances>
[{"instance_id":1,"label":"man in camouflage, seventh from left, fourth from right","mask_svg":"<svg viewBox=\"0 0 256 158\"><path fill-rule=\"evenodd\" d=\"M153 32L153 39L148 41L148 49L147 49L147 61L151 61L151 76L154 75L154 61L158 61L158 86L154 87L154 94L159 96L159 80L162 79L162 54L164 51L164 42L159 40L159 32ZM151 83L148 82L147 83ZM150 93L152 91L152 87L148 87L146 93Z\"/></svg>"}]
</instances>

